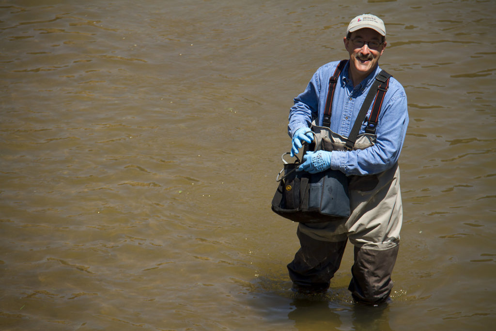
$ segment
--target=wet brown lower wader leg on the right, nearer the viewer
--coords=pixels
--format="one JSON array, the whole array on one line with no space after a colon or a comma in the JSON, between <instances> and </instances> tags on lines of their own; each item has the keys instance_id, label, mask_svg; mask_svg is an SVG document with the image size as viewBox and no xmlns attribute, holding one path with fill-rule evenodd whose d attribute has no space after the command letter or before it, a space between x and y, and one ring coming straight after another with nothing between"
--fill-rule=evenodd
<instances>
[{"instance_id":1,"label":"wet brown lower wader leg on the right, nearer the viewer","mask_svg":"<svg viewBox=\"0 0 496 331\"><path fill-rule=\"evenodd\" d=\"M389 297L393 288L391 272L398 250L399 246L384 251L355 247L355 264L351 268L348 289L356 301L375 304Z\"/></svg>"}]
</instances>

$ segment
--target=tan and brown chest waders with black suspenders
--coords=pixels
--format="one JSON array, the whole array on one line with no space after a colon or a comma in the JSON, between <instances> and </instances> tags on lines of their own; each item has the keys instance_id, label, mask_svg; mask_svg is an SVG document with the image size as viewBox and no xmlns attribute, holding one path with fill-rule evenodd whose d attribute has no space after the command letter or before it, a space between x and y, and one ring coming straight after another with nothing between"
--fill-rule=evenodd
<instances>
[{"instance_id":1,"label":"tan and brown chest waders with black suspenders","mask_svg":"<svg viewBox=\"0 0 496 331\"><path fill-rule=\"evenodd\" d=\"M391 76L383 70L375 77L349 136L329 129L334 90L346 62L341 61L329 79L322 126L312 126L315 135L310 150L350 151L375 144L375 129ZM358 134L371 104L365 133ZM350 176L348 189L351 215L347 219L299 224L301 248L288 265L290 278L298 289L327 289L349 239L355 246L349 290L358 301L378 303L391 292L391 272L398 254L403 218L398 164L379 174Z\"/></svg>"}]
</instances>

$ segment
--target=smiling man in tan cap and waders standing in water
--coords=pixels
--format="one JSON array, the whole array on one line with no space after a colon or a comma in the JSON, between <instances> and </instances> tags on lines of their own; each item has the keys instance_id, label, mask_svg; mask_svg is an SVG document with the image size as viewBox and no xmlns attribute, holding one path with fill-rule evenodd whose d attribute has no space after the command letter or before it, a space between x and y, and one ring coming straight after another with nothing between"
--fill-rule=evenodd
<instances>
[{"instance_id":1,"label":"smiling man in tan cap and waders standing in water","mask_svg":"<svg viewBox=\"0 0 496 331\"><path fill-rule=\"evenodd\" d=\"M355 17L349 24L344 46L350 57L339 74L332 98L330 130L348 137L358 113L381 71L378 61L387 42L383 21L372 15ZM322 126L329 78L339 62L321 66L306 90L295 98L289 115L291 154L310 143L312 122ZM373 91L375 93L375 91ZM359 133L364 133L371 108ZM288 265L294 287L325 291L339 268L348 240L354 245L354 265L349 290L356 301L378 304L387 300L393 283L403 218L398 158L408 126L406 94L389 78L375 129L375 143L365 149L307 152L300 171L339 170L349 178L351 215L343 220L300 223L301 248Z\"/></svg>"}]
</instances>

